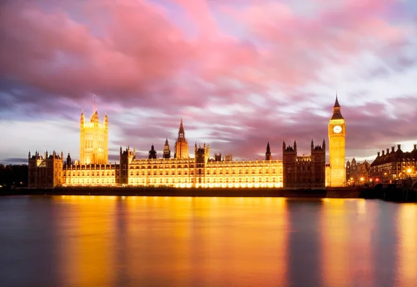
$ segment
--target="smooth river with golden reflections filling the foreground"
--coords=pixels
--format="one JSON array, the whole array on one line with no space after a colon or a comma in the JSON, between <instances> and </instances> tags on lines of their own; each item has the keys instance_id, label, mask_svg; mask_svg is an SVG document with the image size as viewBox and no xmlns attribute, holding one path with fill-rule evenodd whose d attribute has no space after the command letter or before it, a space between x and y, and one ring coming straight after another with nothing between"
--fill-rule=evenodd
<instances>
[{"instance_id":1,"label":"smooth river with golden reflections filling the foreground","mask_svg":"<svg viewBox=\"0 0 417 287\"><path fill-rule=\"evenodd\" d=\"M416 284L416 204L0 198L0 286Z\"/></svg>"}]
</instances>

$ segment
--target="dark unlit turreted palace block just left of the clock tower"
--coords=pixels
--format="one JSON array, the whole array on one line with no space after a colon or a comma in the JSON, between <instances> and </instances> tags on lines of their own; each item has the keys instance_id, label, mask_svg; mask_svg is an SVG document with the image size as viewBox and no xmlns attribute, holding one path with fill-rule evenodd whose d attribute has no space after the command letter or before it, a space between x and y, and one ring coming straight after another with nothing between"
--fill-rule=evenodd
<instances>
[{"instance_id":1,"label":"dark unlit turreted palace block just left of the clock tower","mask_svg":"<svg viewBox=\"0 0 417 287\"><path fill-rule=\"evenodd\" d=\"M326 143L314 146L311 140L311 155L297 156L297 143L287 146L282 143L284 188L320 189L325 187Z\"/></svg>"}]
</instances>

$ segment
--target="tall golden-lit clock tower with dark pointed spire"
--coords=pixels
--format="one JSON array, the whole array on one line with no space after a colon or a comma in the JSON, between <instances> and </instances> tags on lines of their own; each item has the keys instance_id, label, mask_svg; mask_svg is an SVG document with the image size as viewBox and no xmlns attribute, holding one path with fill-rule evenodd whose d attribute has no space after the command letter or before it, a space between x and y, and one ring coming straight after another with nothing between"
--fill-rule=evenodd
<instances>
[{"instance_id":1,"label":"tall golden-lit clock tower with dark pointed spire","mask_svg":"<svg viewBox=\"0 0 417 287\"><path fill-rule=\"evenodd\" d=\"M345 137L346 123L337 100L329 121L330 186L343 186L345 180Z\"/></svg>"}]
</instances>

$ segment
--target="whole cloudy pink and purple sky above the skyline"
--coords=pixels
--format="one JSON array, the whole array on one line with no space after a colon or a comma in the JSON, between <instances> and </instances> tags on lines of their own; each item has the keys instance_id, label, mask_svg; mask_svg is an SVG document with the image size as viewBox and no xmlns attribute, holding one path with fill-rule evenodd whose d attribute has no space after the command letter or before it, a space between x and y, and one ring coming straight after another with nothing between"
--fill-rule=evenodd
<instances>
[{"instance_id":1,"label":"whole cloudy pink and purple sky above the skyline","mask_svg":"<svg viewBox=\"0 0 417 287\"><path fill-rule=\"evenodd\" d=\"M79 158L92 94L111 162L174 149L181 117L190 150L307 154L336 91L347 159L417 143L417 1L3 0L0 25L2 163Z\"/></svg>"}]
</instances>

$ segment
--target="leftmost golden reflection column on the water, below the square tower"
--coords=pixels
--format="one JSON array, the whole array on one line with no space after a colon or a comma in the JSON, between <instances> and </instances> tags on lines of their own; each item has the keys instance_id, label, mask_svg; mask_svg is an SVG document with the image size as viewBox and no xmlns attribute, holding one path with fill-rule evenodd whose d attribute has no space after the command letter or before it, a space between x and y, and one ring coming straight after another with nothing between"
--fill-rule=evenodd
<instances>
[{"instance_id":1,"label":"leftmost golden reflection column on the water, below the square tower","mask_svg":"<svg viewBox=\"0 0 417 287\"><path fill-rule=\"evenodd\" d=\"M114 272L115 196L61 197L60 256L67 286L105 286ZM110 212L109 212L110 211Z\"/></svg>"}]
</instances>

